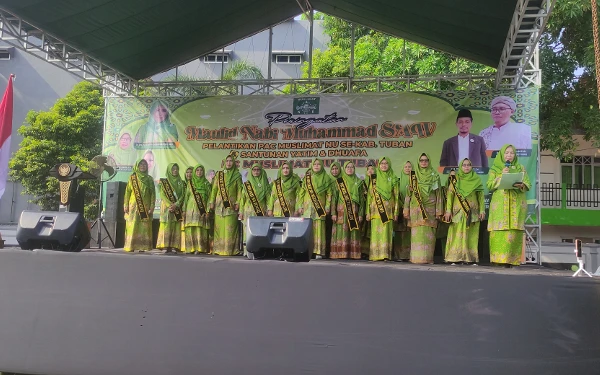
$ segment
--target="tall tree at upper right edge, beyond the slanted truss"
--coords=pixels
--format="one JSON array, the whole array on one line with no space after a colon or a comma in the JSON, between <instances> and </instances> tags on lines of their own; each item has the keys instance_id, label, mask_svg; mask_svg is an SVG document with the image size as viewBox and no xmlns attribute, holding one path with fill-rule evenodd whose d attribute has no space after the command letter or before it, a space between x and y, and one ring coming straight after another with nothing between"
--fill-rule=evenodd
<instances>
[{"instance_id":1,"label":"tall tree at upper right edge, beyond the slanted truss","mask_svg":"<svg viewBox=\"0 0 600 375\"><path fill-rule=\"evenodd\" d=\"M600 147L600 111L589 0L558 0L540 42L542 149L570 158L573 134Z\"/></svg>"}]
</instances>

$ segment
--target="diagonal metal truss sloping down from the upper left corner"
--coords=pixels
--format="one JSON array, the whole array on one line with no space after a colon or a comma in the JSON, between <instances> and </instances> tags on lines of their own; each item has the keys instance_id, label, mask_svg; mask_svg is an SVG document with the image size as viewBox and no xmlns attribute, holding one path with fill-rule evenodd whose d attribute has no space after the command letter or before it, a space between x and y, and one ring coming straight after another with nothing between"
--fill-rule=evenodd
<instances>
[{"instance_id":1,"label":"diagonal metal truss sloping down from the upper left corner","mask_svg":"<svg viewBox=\"0 0 600 375\"><path fill-rule=\"evenodd\" d=\"M115 93L137 90L137 81L0 8L0 40Z\"/></svg>"}]
</instances>

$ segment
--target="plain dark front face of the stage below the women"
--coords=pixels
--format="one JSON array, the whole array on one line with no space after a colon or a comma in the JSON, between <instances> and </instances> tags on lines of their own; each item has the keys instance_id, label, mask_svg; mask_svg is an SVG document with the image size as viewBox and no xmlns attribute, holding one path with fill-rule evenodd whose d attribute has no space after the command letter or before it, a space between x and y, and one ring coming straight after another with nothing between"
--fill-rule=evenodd
<instances>
[{"instance_id":1,"label":"plain dark front face of the stage below the women","mask_svg":"<svg viewBox=\"0 0 600 375\"><path fill-rule=\"evenodd\" d=\"M469 267L4 250L0 371L600 373L598 280Z\"/></svg>"}]
</instances>

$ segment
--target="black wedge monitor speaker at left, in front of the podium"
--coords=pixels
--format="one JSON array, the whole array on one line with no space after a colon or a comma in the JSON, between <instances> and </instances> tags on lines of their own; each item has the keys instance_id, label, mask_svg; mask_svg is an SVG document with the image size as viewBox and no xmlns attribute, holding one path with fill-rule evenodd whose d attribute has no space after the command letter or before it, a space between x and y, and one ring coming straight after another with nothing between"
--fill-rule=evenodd
<instances>
[{"instance_id":1,"label":"black wedge monitor speaker at left, in front of the podium","mask_svg":"<svg viewBox=\"0 0 600 375\"><path fill-rule=\"evenodd\" d=\"M23 211L17 227L17 242L23 250L81 251L90 237L78 212Z\"/></svg>"}]
</instances>

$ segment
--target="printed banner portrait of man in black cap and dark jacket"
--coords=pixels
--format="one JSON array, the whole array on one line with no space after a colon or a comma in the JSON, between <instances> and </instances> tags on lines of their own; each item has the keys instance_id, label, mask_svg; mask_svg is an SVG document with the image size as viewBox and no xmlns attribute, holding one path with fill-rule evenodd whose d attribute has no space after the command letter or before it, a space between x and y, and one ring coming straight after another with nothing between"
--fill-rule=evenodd
<instances>
[{"instance_id":1,"label":"printed banner portrait of man in black cap and dark jacket","mask_svg":"<svg viewBox=\"0 0 600 375\"><path fill-rule=\"evenodd\" d=\"M485 141L482 137L470 133L471 126L473 126L471 111L461 109L456 117L458 135L444 141L440 157L441 167L456 167L461 160L469 158L474 167L487 168Z\"/></svg>"}]
</instances>

